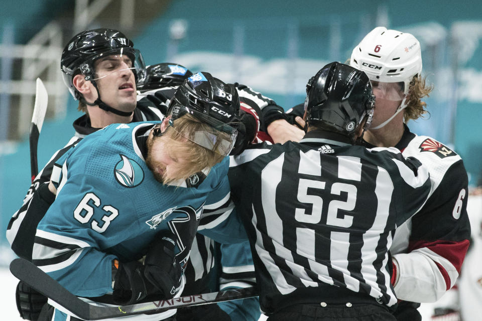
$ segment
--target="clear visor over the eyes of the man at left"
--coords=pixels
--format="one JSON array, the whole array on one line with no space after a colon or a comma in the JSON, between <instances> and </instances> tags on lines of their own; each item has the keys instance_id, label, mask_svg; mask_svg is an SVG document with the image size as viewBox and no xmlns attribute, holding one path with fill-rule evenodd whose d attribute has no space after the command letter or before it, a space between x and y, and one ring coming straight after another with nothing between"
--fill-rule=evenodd
<instances>
[{"instance_id":1,"label":"clear visor over the eyes of the man at left","mask_svg":"<svg viewBox=\"0 0 482 321\"><path fill-rule=\"evenodd\" d=\"M130 71L134 74L136 85L146 82L146 64L141 53L133 48L121 48L101 53L80 65L86 80L98 80L112 74Z\"/></svg>"}]
</instances>

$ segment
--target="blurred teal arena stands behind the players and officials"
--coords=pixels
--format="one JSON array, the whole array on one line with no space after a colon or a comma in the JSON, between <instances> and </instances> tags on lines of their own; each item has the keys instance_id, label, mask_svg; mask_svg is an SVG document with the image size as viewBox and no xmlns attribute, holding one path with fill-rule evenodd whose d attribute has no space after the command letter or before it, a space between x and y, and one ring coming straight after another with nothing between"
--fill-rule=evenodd
<instances>
[{"instance_id":1,"label":"blurred teal arena stands behind the players and officials","mask_svg":"<svg viewBox=\"0 0 482 321\"><path fill-rule=\"evenodd\" d=\"M430 115L408 125L464 159L470 188L482 176L482 2L462 0L216 1L2 0L0 12L0 265L14 258L5 238L30 186L28 131L35 79L49 92L39 168L73 134L81 116L60 75L76 33L121 30L146 64L174 62L224 82L251 86L289 109L323 65L345 62L373 28L413 34L423 75L434 84ZM58 138L57 138L58 137Z\"/></svg>"}]
</instances>

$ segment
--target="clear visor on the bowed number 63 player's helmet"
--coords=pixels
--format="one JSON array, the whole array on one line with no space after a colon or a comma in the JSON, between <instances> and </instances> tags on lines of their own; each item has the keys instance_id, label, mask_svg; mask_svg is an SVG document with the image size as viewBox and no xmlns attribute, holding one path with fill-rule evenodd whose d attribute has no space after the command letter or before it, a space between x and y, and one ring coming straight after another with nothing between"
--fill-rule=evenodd
<instances>
[{"instance_id":1,"label":"clear visor on the bowed number 63 player's helmet","mask_svg":"<svg viewBox=\"0 0 482 321\"><path fill-rule=\"evenodd\" d=\"M192 130L192 128L179 126L180 123L182 124L182 122L179 121L179 118L185 115L191 115L197 120L208 124L209 127L206 128L207 126L204 126L202 130ZM223 156L227 156L234 147L238 131L236 128L226 123L179 104L176 104L171 108L167 117L169 118L169 125L172 129L184 138L189 139L204 148Z\"/></svg>"}]
</instances>

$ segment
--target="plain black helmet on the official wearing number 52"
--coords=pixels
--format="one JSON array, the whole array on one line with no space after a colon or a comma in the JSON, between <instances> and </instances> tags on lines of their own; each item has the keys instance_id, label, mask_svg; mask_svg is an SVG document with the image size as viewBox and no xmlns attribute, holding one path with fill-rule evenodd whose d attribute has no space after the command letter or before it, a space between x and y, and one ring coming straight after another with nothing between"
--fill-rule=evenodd
<instances>
[{"instance_id":1,"label":"plain black helmet on the official wearing number 52","mask_svg":"<svg viewBox=\"0 0 482 321\"><path fill-rule=\"evenodd\" d=\"M363 71L332 62L311 77L306 94L309 124L350 138L365 118L364 128L370 126L375 96L370 79Z\"/></svg>"}]
</instances>

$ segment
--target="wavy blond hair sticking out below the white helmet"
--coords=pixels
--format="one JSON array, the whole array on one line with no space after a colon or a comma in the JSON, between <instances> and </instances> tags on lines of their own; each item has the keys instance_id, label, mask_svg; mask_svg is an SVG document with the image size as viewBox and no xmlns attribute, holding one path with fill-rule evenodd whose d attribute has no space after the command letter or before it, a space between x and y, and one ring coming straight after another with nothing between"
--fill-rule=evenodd
<instances>
[{"instance_id":1,"label":"wavy blond hair sticking out below the white helmet","mask_svg":"<svg viewBox=\"0 0 482 321\"><path fill-rule=\"evenodd\" d=\"M422 78L420 75L415 75L410 82L408 95L407 95L407 107L405 107L403 118L405 123L410 119L418 119L424 116L424 114L429 113L425 109L427 103L421 101L423 97L429 97L429 93L433 90L433 85L427 85L427 77Z\"/></svg>"}]
</instances>

